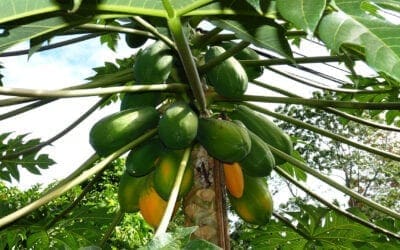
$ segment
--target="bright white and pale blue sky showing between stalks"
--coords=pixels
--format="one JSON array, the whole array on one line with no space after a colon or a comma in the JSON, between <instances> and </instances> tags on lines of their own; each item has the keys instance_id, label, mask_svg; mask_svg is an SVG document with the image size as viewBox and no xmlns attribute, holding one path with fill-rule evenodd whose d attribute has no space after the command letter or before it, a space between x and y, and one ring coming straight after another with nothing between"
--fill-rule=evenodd
<instances>
[{"instance_id":1,"label":"bright white and pale blue sky showing between stalks","mask_svg":"<svg viewBox=\"0 0 400 250\"><path fill-rule=\"evenodd\" d=\"M22 44L10 50L25 49L26 46L26 44ZM295 50L301 53L306 52L308 56L329 54L322 47L310 42L303 43L302 47L295 48ZM4 75L4 85L7 87L58 89L73 84L81 84L85 78L94 74L92 68L102 66L104 61L113 62L116 58L125 58L132 53L135 53L135 50L127 47L123 39L119 43L116 52L111 51L105 45L101 45L98 39L92 39L64 48L39 52L34 54L29 60L27 56L0 58L1 64L5 67L1 72ZM306 66L315 67L316 65ZM320 67L320 71L326 74L342 76L342 79L346 79L344 72L341 70L330 66L318 65L318 67ZM298 74L298 71L291 67L280 68ZM321 79L311 74L305 76L324 83ZM267 83L283 87L306 97L311 96L313 90L271 72L266 73L261 79ZM326 80L324 81L326 82ZM254 86L249 88L248 94L276 95ZM42 138L42 140L46 140L68 126L97 100L97 97L85 97L68 98L53 102L12 119L1 121L0 133L13 131L15 132L13 136L29 133L29 138ZM276 104L268 105L268 108L274 109L276 106ZM0 109L1 113L7 111L7 108ZM119 103L96 111L77 128L54 142L52 146L41 150L40 153L49 154L56 161L56 164L48 170L42 170L42 175L33 175L22 170L20 181L13 181L12 185L18 186L21 189L27 189L35 183L46 185L70 174L94 153L89 144L88 137L91 126L100 118L116 112L118 109ZM335 178L341 181L340 176ZM314 180L313 183L318 182ZM287 198L287 192L281 191L277 194L280 196L278 199L284 200ZM338 198L337 193L330 193L332 193L331 199Z\"/></svg>"}]
</instances>

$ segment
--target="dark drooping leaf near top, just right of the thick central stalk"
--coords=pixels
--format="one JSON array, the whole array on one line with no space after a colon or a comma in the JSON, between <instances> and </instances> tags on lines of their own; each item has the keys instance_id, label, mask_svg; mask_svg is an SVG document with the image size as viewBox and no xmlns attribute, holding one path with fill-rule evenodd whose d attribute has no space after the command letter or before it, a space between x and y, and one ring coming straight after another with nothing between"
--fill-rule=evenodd
<instances>
[{"instance_id":1,"label":"dark drooping leaf near top, just right of the thick central stalk","mask_svg":"<svg viewBox=\"0 0 400 250\"><path fill-rule=\"evenodd\" d=\"M293 58L284 29L267 18L251 18L250 22L235 19L212 20L215 26L232 31L237 38L255 46L272 50L285 58Z\"/></svg>"}]
</instances>

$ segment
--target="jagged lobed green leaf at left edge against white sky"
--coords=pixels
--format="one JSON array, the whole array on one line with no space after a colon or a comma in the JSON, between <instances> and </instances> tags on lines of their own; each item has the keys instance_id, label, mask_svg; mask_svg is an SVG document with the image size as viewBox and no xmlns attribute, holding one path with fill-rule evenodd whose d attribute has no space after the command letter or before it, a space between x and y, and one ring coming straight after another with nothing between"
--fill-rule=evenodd
<instances>
[{"instance_id":1,"label":"jagged lobed green leaf at left edge against white sky","mask_svg":"<svg viewBox=\"0 0 400 250\"><path fill-rule=\"evenodd\" d=\"M3 158L0 161L0 178L11 181L12 178L19 180L19 167L27 169L33 174L40 175L40 169L47 169L55 162L47 154L38 154L38 152L28 154L18 154L18 152L34 147L41 143L40 139L25 140L27 134L17 135L15 138L9 138L11 133L0 135L0 155ZM9 157L13 155L12 157Z\"/></svg>"}]
</instances>

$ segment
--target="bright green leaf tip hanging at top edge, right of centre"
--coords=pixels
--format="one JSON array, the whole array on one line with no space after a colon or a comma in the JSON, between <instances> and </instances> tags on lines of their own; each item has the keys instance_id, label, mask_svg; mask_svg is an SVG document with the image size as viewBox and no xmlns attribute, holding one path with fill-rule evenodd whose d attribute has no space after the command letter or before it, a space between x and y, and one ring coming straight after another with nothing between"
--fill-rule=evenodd
<instances>
[{"instance_id":1,"label":"bright green leaf tip hanging at top edge, right of centre","mask_svg":"<svg viewBox=\"0 0 400 250\"><path fill-rule=\"evenodd\" d=\"M277 0L279 13L297 28L312 34L325 10L325 0Z\"/></svg>"}]
</instances>

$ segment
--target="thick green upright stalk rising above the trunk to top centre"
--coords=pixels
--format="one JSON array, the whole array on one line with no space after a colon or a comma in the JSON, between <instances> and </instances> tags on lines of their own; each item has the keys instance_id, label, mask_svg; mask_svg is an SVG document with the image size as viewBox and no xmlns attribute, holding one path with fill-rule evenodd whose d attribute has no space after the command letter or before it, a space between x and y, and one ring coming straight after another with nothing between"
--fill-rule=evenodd
<instances>
[{"instance_id":1,"label":"thick green upright stalk rising above the trunk to top centre","mask_svg":"<svg viewBox=\"0 0 400 250\"><path fill-rule=\"evenodd\" d=\"M168 19L168 27L178 48L178 54L185 69L193 95L198 102L201 116L209 116L207 101L203 90L203 85L197 71L193 55L189 47L186 36L182 30L182 23L179 17Z\"/></svg>"}]
</instances>

